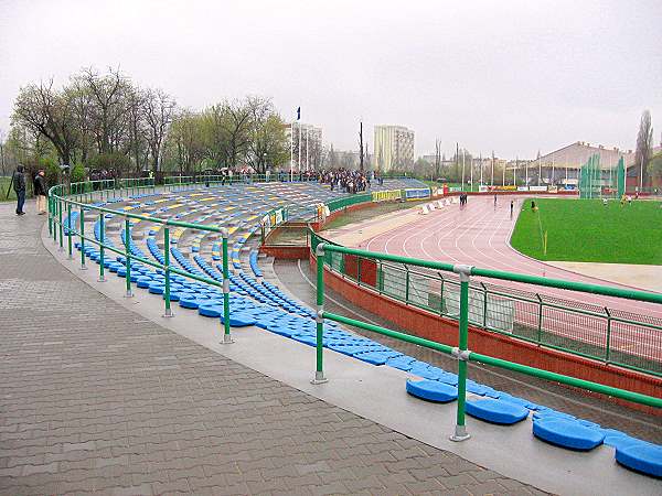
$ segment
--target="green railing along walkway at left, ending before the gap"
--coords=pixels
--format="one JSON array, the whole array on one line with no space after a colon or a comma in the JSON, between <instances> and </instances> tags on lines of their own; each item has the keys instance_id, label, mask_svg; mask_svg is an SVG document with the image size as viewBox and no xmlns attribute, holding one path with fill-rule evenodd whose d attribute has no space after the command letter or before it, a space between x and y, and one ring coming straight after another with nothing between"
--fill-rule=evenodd
<instances>
[{"instance_id":1,"label":"green railing along walkway at left, ending before the gap","mask_svg":"<svg viewBox=\"0 0 662 496\"><path fill-rule=\"evenodd\" d=\"M67 238L67 247L70 258L73 258L72 254L72 238L78 237L81 245L81 269L86 269L86 260L85 260L85 245L87 242L92 245L96 245L99 247L99 282L105 281L105 257L107 252L114 252L119 256L122 256L126 260L126 295L132 296L131 291L131 261L137 261L145 263L147 266L153 267L156 269L160 269L164 274L164 291L163 291L163 300L164 300L164 314L163 316L172 316L171 310L171 300L170 300L170 291L171 291L171 274L177 273L179 276L193 279L199 282L204 282L216 288L222 289L223 291L223 321L224 321L224 334L223 334L223 343L232 343L231 328L229 328L229 269L228 269L228 249L227 249L227 240L228 233L225 228L201 225L201 224L192 224L192 223L183 223L170 219L162 219L158 217L151 217L148 215L139 215L131 214L130 212L124 211L115 211L111 208L106 208L102 206L92 205L88 203L84 203L85 201L96 200L99 201L104 198L105 195L109 193L106 190L93 188L90 186L92 182L85 183L74 183L70 186L65 185L56 185L51 187L49 191L49 231L53 237L54 242L60 242L60 249L64 249L64 238ZM116 186L116 182L103 182L104 185ZM126 183L121 186L126 187L127 192L140 192L145 190L151 188L153 191L153 181L151 180L136 180L129 183ZM113 187L115 191L115 187ZM71 193L67 194L67 193ZM106 196L107 197L107 196ZM75 198L75 200L74 200ZM64 220L63 220L63 211L66 209L66 233L64 229ZM78 220L78 229L71 223L71 213L72 211L77 209L79 212L79 220ZM85 213L92 212L98 214L98 223L99 223L99 239L97 240L95 236L88 236L85 233ZM106 224L105 224L105 215L111 214L114 216L118 216L124 219L124 233L125 236L121 239L121 245L124 249L119 249L115 247L113 244L107 242L106 237ZM131 223L130 220L141 220L146 223L153 223L163 226L163 260L164 263L159 263L158 261L150 260L148 258L141 257L139 255L135 255L131 252ZM197 229L207 233L216 233L221 234L223 237L223 282L218 282L214 279L196 276L184 270L180 270L177 267L173 267L170 262L170 228L171 227L183 227L188 229Z\"/></svg>"}]
</instances>

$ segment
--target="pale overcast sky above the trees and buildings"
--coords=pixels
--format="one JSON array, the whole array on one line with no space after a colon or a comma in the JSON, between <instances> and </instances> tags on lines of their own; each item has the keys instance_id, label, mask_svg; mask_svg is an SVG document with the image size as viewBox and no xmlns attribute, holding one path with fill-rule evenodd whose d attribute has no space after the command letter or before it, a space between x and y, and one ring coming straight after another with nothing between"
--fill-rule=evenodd
<instances>
[{"instance_id":1,"label":"pale overcast sky above the trees and buildings","mask_svg":"<svg viewBox=\"0 0 662 496\"><path fill-rule=\"evenodd\" d=\"M356 149L362 118L417 154L535 157L573 141L634 148L662 131L662 1L0 0L0 129L20 86L119 66L195 109L271 97L286 120Z\"/></svg>"}]
</instances>

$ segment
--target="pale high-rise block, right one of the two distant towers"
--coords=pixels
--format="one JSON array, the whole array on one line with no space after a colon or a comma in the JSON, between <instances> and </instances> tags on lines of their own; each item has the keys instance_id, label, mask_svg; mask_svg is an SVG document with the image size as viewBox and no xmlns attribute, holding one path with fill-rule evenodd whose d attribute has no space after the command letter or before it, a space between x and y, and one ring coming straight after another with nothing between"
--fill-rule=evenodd
<instances>
[{"instance_id":1,"label":"pale high-rise block, right one of the two distant towers","mask_svg":"<svg viewBox=\"0 0 662 496\"><path fill-rule=\"evenodd\" d=\"M388 172L410 169L414 164L414 131L404 126L375 126L374 169Z\"/></svg>"}]
</instances>

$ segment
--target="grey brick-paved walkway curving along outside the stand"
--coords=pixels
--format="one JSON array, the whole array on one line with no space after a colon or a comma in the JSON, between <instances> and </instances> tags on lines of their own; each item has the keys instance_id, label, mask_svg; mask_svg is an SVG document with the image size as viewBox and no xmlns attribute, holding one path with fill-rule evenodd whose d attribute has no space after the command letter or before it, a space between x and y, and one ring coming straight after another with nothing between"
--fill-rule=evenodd
<instances>
[{"instance_id":1,"label":"grey brick-paved walkway curving along outside the stand","mask_svg":"<svg viewBox=\"0 0 662 496\"><path fill-rule=\"evenodd\" d=\"M126 311L51 257L43 217L12 212L0 204L0 494L540 493Z\"/></svg>"}]
</instances>

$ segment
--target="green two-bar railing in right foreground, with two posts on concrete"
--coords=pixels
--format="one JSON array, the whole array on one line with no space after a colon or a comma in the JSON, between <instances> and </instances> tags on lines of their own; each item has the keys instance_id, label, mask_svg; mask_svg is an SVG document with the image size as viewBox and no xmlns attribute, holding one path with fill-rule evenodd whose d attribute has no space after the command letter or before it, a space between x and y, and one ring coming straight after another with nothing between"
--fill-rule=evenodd
<instances>
[{"instance_id":1,"label":"green two-bar railing in right foreground, with two posts on concrete","mask_svg":"<svg viewBox=\"0 0 662 496\"><path fill-rule=\"evenodd\" d=\"M639 392L628 391L611 386L606 386L589 380L577 379L575 377L565 376L562 374L543 370L536 367L530 367L513 362L504 360L501 358L494 358L489 355L482 355L468 349L468 330L469 330L469 312L470 312L470 280L472 276L479 276L484 278L492 278L498 280L526 282L532 284L538 284L546 288L558 288L565 290L580 291L591 294L601 294L607 296L617 296L626 300L643 301L662 304L662 294L648 293L636 290L623 290L619 288L610 288L597 284L586 284L581 282L564 281L558 279L540 278L535 276L524 276L513 272L503 272L491 269L480 269L477 267L463 266L463 265L450 265L427 260L417 260L407 257L399 257L396 255L376 254L372 251L364 251L354 248L345 248L338 245L331 245L327 242L317 242L314 248L317 259L317 354L316 354L316 374L312 384L325 382L328 378L324 376L323 368L323 325L324 319L335 321L342 324L352 325L359 328L371 331L377 334L389 336L396 339L401 339L407 343L413 343L419 346L424 346L437 352L451 355L458 359L458 401L457 401L457 416L456 416L456 429L453 434L450 436L452 441L463 441L469 439L469 434L466 428L465 420L465 406L467 398L467 364L469 362L479 362L485 365L492 365L509 370L514 370L521 374L525 374L532 377L541 379L557 381L567 386L586 389L602 395L608 395L615 398L632 401L639 405L645 405L654 408L662 408L662 399L654 398L651 396L642 395ZM367 324L355 319L350 319L335 313L327 312L324 310L324 265L329 263L329 258L334 255L361 257L367 260L381 260L396 263L403 263L412 267L420 267L431 269L436 271L450 272L459 276L460 291L459 291L459 325L458 325L458 346L449 346L441 343L436 343L429 339L425 339L417 336L412 336L405 333L388 330L378 325ZM320 262L321 261L321 262Z\"/></svg>"}]
</instances>

